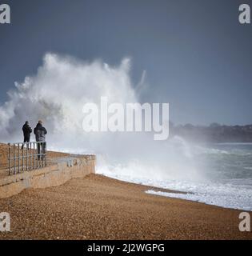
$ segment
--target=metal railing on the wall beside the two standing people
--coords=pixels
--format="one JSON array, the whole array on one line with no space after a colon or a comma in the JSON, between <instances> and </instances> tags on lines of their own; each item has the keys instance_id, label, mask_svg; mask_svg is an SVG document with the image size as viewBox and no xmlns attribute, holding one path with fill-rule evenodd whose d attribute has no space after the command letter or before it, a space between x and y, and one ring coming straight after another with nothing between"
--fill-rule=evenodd
<instances>
[{"instance_id":1,"label":"metal railing on the wall beside the two standing people","mask_svg":"<svg viewBox=\"0 0 252 256\"><path fill-rule=\"evenodd\" d=\"M17 142L9 143L8 146L9 175L47 165L46 142Z\"/></svg>"}]
</instances>

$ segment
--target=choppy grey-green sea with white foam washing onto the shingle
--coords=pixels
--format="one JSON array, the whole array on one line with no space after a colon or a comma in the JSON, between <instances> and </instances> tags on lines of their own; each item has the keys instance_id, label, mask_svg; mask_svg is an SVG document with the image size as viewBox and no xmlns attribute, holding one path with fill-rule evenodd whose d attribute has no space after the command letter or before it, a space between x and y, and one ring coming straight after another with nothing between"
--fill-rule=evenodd
<instances>
[{"instance_id":1,"label":"choppy grey-green sea with white foam washing onto the shingle","mask_svg":"<svg viewBox=\"0 0 252 256\"><path fill-rule=\"evenodd\" d=\"M139 178L127 175L126 171L116 166L98 167L97 172L126 182L157 187L155 190L146 190L148 194L252 210L252 143L194 146L193 157L198 162L198 168L204 172L204 179ZM161 192L158 187L183 193Z\"/></svg>"}]
</instances>

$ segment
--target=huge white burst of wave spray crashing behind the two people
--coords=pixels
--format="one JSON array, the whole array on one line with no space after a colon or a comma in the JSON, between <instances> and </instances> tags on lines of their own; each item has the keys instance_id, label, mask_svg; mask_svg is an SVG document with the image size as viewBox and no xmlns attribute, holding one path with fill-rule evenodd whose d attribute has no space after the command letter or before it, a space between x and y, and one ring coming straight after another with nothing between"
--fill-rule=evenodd
<instances>
[{"instance_id":1,"label":"huge white burst of wave spray crashing behind the two people","mask_svg":"<svg viewBox=\"0 0 252 256\"><path fill-rule=\"evenodd\" d=\"M82 129L82 107L86 102L98 104L103 96L109 102L141 102L145 75L146 72L141 86L133 84L129 58L118 66L110 66L101 60L85 62L46 54L38 72L16 82L15 88L8 92L9 99L0 106L0 141L22 141L22 124L29 120L34 127L42 119L49 131L46 141L50 150L94 153L98 156L99 174L194 193L202 191L203 195L216 191L215 198L221 198L219 195L224 191L225 197L216 203L219 206L250 208L251 198L246 193L251 190L234 187L234 193L230 193L226 184L216 190L216 183L212 186L208 180L206 164L198 161L197 148L182 138L158 142L151 133L86 133ZM250 167L246 166L246 170ZM209 198L214 197L210 195L205 200L202 194L189 199L209 203ZM227 198L233 198L234 194L240 202L226 205ZM246 203L242 203L242 196Z\"/></svg>"}]
</instances>

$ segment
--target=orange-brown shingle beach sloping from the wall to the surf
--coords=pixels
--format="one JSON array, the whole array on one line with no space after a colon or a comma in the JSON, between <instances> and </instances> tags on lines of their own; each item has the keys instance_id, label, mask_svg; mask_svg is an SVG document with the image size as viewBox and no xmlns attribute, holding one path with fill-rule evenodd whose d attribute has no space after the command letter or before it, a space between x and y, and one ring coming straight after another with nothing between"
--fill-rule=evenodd
<instances>
[{"instance_id":1,"label":"orange-brown shingle beach sloping from the wall to the surf","mask_svg":"<svg viewBox=\"0 0 252 256\"><path fill-rule=\"evenodd\" d=\"M252 232L238 230L240 210L148 189L154 188L90 174L24 190L0 200L0 212L11 218L11 232L0 232L0 239L252 239Z\"/></svg>"}]
</instances>

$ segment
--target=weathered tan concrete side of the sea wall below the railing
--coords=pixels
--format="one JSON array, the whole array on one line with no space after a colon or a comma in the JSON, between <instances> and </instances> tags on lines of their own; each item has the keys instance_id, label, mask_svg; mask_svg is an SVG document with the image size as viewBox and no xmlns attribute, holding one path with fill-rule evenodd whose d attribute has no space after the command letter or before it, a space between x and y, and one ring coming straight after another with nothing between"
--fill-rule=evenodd
<instances>
[{"instance_id":1,"label":"weathered tan concrete side of the sea wall below the railing","mask_svg":"<svg viewBox=\"0 0 252 256\"><path fill-rule=\"evenodd\" d=\"M95 173L94 155L78 158L63 158L57 164L38 170L25 171L0 179L0 198L19 194L27 188L46 188L60 186L71 178L82 178Z\"/></svg>"}]
</instances>

